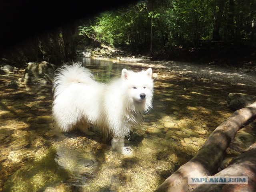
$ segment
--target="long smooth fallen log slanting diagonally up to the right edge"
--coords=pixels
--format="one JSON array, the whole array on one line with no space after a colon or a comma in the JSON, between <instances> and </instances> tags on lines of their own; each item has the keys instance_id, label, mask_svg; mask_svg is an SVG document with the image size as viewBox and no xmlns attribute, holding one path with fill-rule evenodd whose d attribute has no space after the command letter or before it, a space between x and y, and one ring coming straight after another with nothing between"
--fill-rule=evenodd
<instances>
[{"instance_id":1,"label":"long smooth fallen log slanting diagonally up to the right edge","mask_svg":"<svg viewBox=\"0 0 256 192\"><path fill-rule=\"evenodd\" d=\"M204 143L199 152L186 164L168 177L155 192L188 192L195 185L188 185L188 176L202 177L214 175L224 157L226 148L242 125L256 116L256 102L246 108L236 110L226 119Z\"/></svg>"}]
</instances>

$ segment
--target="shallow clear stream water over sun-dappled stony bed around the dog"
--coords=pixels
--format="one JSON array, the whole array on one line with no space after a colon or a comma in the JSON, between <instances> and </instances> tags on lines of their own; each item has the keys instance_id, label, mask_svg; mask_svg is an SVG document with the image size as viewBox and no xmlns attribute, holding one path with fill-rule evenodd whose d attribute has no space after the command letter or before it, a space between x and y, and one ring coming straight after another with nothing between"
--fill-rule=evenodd
<instances>
[{"instance_id":1,"label":"shallow clear stream water over sun-dappled stony bed around the dog","mask_svg":"<svg viewBox=\"0 0 256 192\"><path fill-rule=\"evenodd\" d=\"M119 77L122 68L140 66L78 58L96 80ZM52 86L0 88L0 187L3 191L153 191L204 144L232 113L223 83L202 82L153 68L154 109L134 129L131 156L111 150L109 139L52 131ZM0 76L6 84L22 73Z\"/></svg>"}]
</instances>

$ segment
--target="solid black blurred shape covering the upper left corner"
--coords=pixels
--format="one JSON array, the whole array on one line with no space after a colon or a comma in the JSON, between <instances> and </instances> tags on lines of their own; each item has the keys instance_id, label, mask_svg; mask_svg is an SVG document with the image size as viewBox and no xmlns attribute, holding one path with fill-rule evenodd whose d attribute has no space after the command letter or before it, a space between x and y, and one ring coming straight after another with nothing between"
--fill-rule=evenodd
<instances>
[{"instance_id":1,"label":"solid black blurred shape covering the upper left corner","mask_svg":"<svg viewBox=\"0 0 256 192\"><path fill-rule=\"evenodd\" d=\"M132 2L135 0L1 0L0 51L52 28Z\"/></svg>"}]
</instances>

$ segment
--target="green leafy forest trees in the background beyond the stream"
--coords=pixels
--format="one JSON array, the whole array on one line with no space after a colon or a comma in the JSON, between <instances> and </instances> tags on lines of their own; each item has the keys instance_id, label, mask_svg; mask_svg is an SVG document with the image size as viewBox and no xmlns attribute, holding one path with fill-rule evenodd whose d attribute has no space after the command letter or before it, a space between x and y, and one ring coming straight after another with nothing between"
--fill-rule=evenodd
<instances>
[{"instance_id":1,"label":"green leafy forest trees in the background beyond the stream","mask_svg":"<svg viewBox=\"0 0 256 192\"><path fill-rule=\"evenodd\" d=\"M132 50L255 39L255 0L143 0L80 24L80 35Z\"/></svg>"}]
</instances>

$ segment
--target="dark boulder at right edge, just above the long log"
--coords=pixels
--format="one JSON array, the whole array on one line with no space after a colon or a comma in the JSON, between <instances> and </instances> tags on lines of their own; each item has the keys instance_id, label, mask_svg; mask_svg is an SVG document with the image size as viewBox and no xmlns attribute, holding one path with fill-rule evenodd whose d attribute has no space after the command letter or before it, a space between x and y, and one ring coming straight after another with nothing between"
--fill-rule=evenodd
<instances>
[{"instance_id":1,"label":"dark boulder at right edge, just above the long log","mask_svg":"<svg viewBox=\"0 0 256 192\"><path fill-rule=\"evenodd\" d=\"M243 93L230 93L228 94L228 106L232 110L245 108L256 101L256 96L247 95Z\"/></svg>"}]
</instances>

